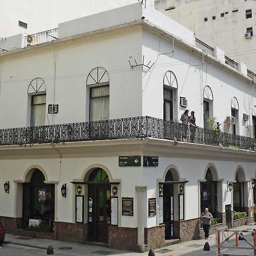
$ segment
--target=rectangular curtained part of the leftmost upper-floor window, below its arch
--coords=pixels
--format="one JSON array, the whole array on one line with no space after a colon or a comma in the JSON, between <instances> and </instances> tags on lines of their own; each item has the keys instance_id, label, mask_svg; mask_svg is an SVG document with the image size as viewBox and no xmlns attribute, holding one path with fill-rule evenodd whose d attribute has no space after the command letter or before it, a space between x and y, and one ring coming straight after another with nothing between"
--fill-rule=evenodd
<instances>
[{"instance_id":1,"label":"rectangular curtained part of the leftmost upper-floor window, below its arch","mask_svg":"<svg viewBox=\"0 0 256 256\"><path fill-rule=\"evenodd\" d=\"M32 96L31 126L46 124L46 94Z\"/></svg>"}]
</instances>

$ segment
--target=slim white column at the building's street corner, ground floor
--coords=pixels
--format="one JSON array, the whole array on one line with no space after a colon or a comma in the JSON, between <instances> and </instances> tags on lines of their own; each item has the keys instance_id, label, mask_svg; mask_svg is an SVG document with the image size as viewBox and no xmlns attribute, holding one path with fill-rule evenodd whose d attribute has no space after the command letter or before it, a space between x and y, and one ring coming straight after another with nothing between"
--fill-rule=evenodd
<instances>
[{"instance_id":1,"label":"slim white column at the building's street corner, ground floor","mask_svg":"<svg viewBox=\"0 0 256 256\"><path fill-rule=\"evenodd\" d=\"M137 186L135 188L137 191L138 245L144 245L144 195L147 187Z\"/></svg>"}]
</instances>

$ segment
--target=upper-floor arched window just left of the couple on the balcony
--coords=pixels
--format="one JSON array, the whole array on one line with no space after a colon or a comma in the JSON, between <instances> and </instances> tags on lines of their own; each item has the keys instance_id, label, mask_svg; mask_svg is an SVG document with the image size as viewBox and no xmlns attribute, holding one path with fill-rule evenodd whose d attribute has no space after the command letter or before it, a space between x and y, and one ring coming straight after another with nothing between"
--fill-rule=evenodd
<instances>
[{"instance_id":1,"label":"upper-floor arched window just left of the couple on the balcony","mask_svg":"<svg viewBox=\"0 0 256 256\"><path fill-rule=\"evenodd\" d=\"M163 78L163 119L170 121L174 119L174 102L177 98L177 78L172 71L167 71Z\"/></svg>"}]
</instances>

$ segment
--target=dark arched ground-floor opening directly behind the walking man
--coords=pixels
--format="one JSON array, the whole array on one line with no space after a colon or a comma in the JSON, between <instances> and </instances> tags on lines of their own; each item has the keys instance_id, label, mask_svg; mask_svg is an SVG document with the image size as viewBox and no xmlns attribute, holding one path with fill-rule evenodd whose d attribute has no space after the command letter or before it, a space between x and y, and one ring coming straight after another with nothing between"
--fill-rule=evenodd
<instances>
[{"instance_id":1,"label":"dark arched ground-floor opening directly behind the walking man","mask_svg":"<svg viewBox=\"0 0 256 256\"><path fill-rule=\"evenodd\" d=\"M213 181L213 175L210 168L207 169L205 180L205 182L201 182L200 184L201 212L204 212L205 208L209 208L213 217L217 218L217 181Z\"/></svg>"}]
</instances>

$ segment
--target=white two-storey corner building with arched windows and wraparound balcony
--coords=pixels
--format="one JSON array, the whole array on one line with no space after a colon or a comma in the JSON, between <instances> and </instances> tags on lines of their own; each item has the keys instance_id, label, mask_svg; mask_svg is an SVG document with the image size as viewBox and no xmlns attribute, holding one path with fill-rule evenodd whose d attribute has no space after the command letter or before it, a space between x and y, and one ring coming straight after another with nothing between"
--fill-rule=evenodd
<instances>
[{"instance_id":1,"label":"white two-storey corner building with arched windows and wraparound balcony","mask_svg":"<svg viewBox=\"0 0 256 256\"><path fill-rule=\"evenodd\" d=\"M206 54L192 31L141 3L57 32L0 55L7 232L144 251L200 237L205 207L220 225L253 221L245 64L225 64L219 48ZM186 108L198 127L179 123ZM238 224L233 211L247 217Z\"/></svg>"}]
</instances>

